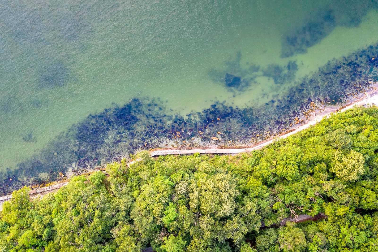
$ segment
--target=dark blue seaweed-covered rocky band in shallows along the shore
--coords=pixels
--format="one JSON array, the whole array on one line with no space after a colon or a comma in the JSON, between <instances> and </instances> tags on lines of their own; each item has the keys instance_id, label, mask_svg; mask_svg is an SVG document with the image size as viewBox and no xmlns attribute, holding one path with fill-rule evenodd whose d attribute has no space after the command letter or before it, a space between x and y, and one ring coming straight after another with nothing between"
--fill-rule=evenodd
<instances>
[{"instance_id":1,"label":"dark blue seaweed-covered rocky band in shallows along the shore","mask_svg":"<svg viewBox=\"0 0 378 252\"><path fill-rule=\"evenodd\" d=\"M191 146L192 137L199 140L196 145L208 145L211 141L209 138L216 135L217 129L222 129L224 133L219 144L228 145L234 143L233 141L248 144L251 137L256 137L256 133L266 130L277 132L287 127L294 117L301 115L301 109L308 109L311 101L335 100L345 103L350 99L348 94L356 92L359 85L370 86L369 81L378 80L377 56L376 44L341 59L329 61L319 68L318 72L306 76L296 83L295 87L289 88L283 98L277 98L259 107L241 109L228 106L224 102L215 102L201 112L192 112L184 120L180 115L169 115L170 111L159 99L133 99L124 106L114 105L74 124L40 154L19 163L17 170L8 170L2 176L2 193L9 193L22 185L37 183L42 177L56 180L59 178L59 172L65 173L72 167L74 173L81 173L88 167L94 168L112 160L118 161L139 149L169 145ZM296 71L294 63L291 62L278 70L275 66L271 67L274 76L291 78L292 72ZM238 61L231 65L238 70ZM240 76L241 81L247 74L243 75L245 69L239 68L239 71L235 76ZM231 82L239 82L239 79L234 79L235 76ZM280 82L277 79L277 83ZM177 123L177 129L170 132L165 128L157 128L158 125L164 125L165 121ZM216 130L207 132L200 128L203 134L199 134L196 128L183 131L180 125L184 121L187 124L204 124L209 127L210 124L214 124L215 128L212 127ZM152 128L156 126L154 129L157 129L151 131L148 128L139 128L141 125L150 125ZM180 135L176 131L180 131ZM25 139L33 139L33 135L28 134Z\"/></svg>"}]
</instances>

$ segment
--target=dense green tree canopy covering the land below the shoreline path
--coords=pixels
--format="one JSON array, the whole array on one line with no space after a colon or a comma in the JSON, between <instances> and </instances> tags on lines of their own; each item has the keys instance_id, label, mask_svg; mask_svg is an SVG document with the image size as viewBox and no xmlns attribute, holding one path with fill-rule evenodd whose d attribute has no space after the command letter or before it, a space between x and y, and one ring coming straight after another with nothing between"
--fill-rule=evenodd
<instances>
[{"instance_id":1,"label":"dense green tree canopy covering the land below the shoreline path","mask_svg":"<svg viewBox=\"0 0 378 252\"><path fill-rule=\"evenodd\" d=\"M378 108L237 156L138 154L0 213L0 251L378 251ZM260 228L300 214L326 219Z\"/></svg>"}]
</instances>

